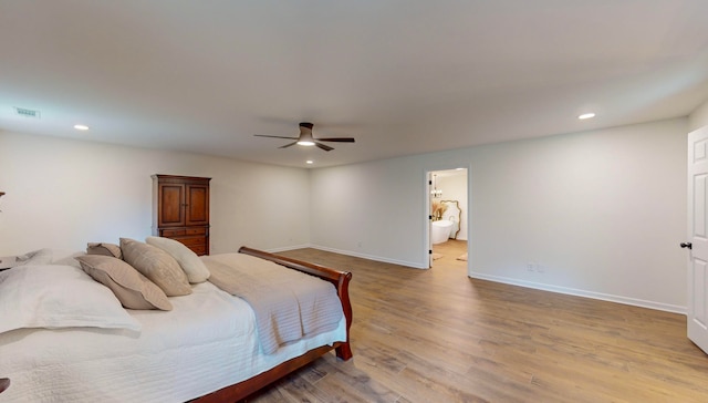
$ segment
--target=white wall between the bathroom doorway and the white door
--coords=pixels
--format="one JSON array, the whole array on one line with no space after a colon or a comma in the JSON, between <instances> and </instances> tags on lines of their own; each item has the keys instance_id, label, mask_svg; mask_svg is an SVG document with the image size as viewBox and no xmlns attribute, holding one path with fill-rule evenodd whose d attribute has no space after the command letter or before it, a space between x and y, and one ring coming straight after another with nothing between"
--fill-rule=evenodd
<instances>
[{"instance_id":1,"label":"white wall between the bathroom doorway and the white door","mask_svg":"<svg viewBox=\"0 0 708 403\"><path fill-rule=\"evenodd\" d=\"M684 311L686 134L673 120L475 149L473 273Z\"/></svg>"}]
</instances>

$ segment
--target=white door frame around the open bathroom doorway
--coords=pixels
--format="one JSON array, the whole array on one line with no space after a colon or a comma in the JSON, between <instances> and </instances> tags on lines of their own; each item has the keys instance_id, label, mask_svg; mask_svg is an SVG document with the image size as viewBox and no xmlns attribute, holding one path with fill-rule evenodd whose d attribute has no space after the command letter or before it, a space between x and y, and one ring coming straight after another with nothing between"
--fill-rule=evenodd
<instances>
[{"instance_id":1,"label":"white door frame around the open bathroom doorway","mask_svg":"<svg viewBox=\"0 0 708 403\"><path fill-rule=\"evenodd\" d=\"M467 276L470 277L471 272L472 272L472 252L471 252L471 240L472 240L472 166L470 163L460 163L460 164L455 164L455 163L445 163L445 164L439 164L439 165L434 165L434 166L428 166L423 170L423 183L425 184L425 186L423 186L424 192L423 192L423 259L421 261L427 261L427 269L430 269L433 267L433 257L429 254L429 250L433 250L433 239L430 237L430 225L431 225L431 220L429 218L430 216L430 206L433 204L433 198L430 197L430 190L433 189L431 187L431 180L433 180L433 173L438 172L438 170L450 170L450 169L457 169L457 168L462 168L467 170L467 205L464 206L464 208L467 208L467 219L466 219L466 224L467 224Z\"/></svg>"}]
</instances>

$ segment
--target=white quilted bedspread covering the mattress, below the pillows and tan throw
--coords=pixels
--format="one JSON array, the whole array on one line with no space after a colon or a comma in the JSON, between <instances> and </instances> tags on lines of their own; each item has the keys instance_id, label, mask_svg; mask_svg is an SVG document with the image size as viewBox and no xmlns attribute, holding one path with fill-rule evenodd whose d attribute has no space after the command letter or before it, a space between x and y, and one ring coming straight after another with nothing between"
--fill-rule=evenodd
<instances>
[{"instance_id":1,"label":"white quilted bedspread covering the mattress, below the pillows and tan throw","mask_svg":"<svg viewBox=\"0 0 708 403\"><path fill-rule=\"evenodd\" d=\"M243 300L205 282L170 302L169 312L129 310L143 326L139 333L72 328L0 334L0 378L12 382L0 402L184 402L346 339L343 319L332 332L264 355Z\"/></svg>"}]
</instances>

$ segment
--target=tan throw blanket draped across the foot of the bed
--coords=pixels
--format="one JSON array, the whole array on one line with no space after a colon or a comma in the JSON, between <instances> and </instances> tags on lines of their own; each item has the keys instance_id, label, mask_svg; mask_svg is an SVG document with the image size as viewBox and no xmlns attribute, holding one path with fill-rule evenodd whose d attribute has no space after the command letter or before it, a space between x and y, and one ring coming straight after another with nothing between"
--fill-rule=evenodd
<instances>
[{"instance_id":1,"label":"tan throw blanket draped across the foot of the bed","mask_svg":"<svg viewBox=\"0 0 708 403\"><path fill-rule=\"evenodd\" d=\"M344 316L334 286L316 277L243 254L202 256L209 281L244 299L256 312L261 349L336 329Z\"/></svg>"}]
</instances>

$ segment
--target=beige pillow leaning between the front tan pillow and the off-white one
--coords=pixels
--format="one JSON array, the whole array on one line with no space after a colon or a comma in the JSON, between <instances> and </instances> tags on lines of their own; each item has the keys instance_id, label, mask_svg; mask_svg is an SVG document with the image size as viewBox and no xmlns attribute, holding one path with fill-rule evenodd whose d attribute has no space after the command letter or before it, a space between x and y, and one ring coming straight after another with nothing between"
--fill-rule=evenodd
<instances>
[{"instance_id":1,"label":"beige pillow leaning between the front tan pillow and the off-white one","mask_svg":"<svg viewBox=\"0 0 708 403\"><path fill-rule=\"evenodd\" d=\"M123 260L157 285L167 297L191 293L187 275L166 251L134 239L121 238Z\"/></svg>"}]
</instances>

